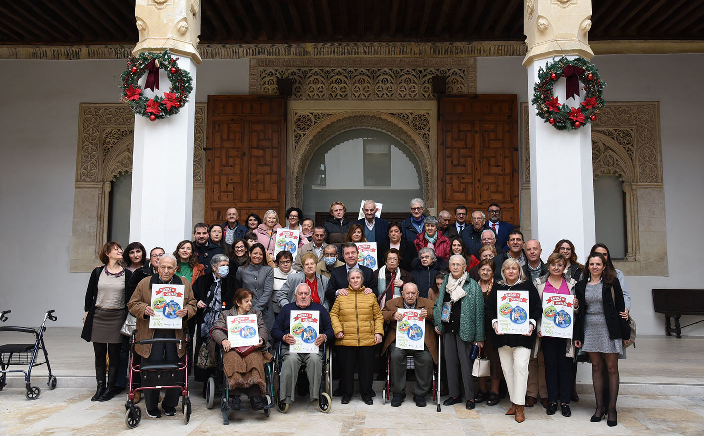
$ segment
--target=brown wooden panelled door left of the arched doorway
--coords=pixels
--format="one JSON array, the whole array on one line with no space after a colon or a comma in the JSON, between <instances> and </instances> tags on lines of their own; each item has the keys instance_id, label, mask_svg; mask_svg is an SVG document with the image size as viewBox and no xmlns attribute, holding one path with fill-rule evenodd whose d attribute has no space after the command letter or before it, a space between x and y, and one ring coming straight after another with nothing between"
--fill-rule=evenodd
<instances>
[{"instance_id":1,"label":"brown wooden panelled door left of the arched doorway","mask_svg":"<svg viewBox=\"0 0 704 436\"><path fill-rule=\"evenodd\" d=\"M286 125L282 97L208 96L206 222L225 222L237 207L244 224L251 212L284 213Z\"/></svg>"}]
</instances>

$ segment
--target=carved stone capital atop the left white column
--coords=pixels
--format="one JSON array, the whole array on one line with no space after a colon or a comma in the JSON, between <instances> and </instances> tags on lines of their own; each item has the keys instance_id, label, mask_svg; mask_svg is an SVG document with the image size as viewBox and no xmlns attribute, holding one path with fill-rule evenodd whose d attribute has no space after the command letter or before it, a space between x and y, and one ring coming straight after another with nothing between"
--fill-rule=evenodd
<instances>
[{"instance_id":1,"label":"carved stone capital atop the left white column","mask_svg":"<svg viewBox=\"0 0 704 436\"><path fill-rule=\"evenodd\" d=\"M198 35L201 33L199 0L137 0L134 19L139 41L132 53L170 49L201 63Z\"/></svg>"}]
</instances>

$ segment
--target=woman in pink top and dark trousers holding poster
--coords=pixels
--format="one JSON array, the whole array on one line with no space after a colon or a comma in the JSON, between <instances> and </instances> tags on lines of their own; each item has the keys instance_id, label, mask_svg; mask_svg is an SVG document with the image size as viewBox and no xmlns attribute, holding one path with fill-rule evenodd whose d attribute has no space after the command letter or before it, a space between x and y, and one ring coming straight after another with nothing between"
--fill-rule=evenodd
<instances>
[{"instance_id":1,"label":"woman in pink top and dark trousers holding poster","mask_svg":"<svg viewBox=\"0 0 704 436\"><path fill-rule=\"evenodd\" d=\"M542 345L545 384L548 388L548 407L545 413L554 415L558 411L560 399L562 416L572 416L572 325L574 312L578 312L579 308L579 301L574 296L577 281L565 274L567 259L560 253L553 252L546 264L550 274L534 281L541 297L543 313L536 328L538 337L533 346L533 355L537 357Z\"/></svg>"}]
</instances>

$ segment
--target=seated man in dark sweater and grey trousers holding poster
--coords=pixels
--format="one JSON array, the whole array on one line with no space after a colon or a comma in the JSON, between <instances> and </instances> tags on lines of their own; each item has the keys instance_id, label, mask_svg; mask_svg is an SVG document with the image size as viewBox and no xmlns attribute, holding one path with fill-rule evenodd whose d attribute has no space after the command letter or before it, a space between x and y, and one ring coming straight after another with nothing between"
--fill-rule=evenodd
<instances>
[{"instance_id":1,"label":"seated man in dark sweater and grey trousers holding poster","mask_svg":"<svg viewBox=\"0 0 704 436\"><path fill-rule=\"evenodd\" d=\"M294 402L298 369L305 364L310 402L318 402L320 371L325 359L320 345L332 338L334 331L327 309L310 301L310 287L306 283L296 286L294 298L294 302L281 308L271 331L272 338L281 341L278 400L286 404Z\"/></svg>"}]
</instances>

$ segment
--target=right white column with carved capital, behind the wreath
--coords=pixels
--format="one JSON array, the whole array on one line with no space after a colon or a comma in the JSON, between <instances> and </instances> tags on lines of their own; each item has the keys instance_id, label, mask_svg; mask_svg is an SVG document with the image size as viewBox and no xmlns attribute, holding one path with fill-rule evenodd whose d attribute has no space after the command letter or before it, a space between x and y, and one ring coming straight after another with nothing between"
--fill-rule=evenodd
<instances>
[{"instance_id":1,"label":"right white column with carved capital, behind the wreath","mask_svg":"<svg viewBox=\"0 0 704 436\"><path fill-rule=\"evenodd\" d=\"M525 0L524 33L528 51L523 65L528 71L528 99L538 79L538 68L561 56L594 55L587 42L591 27L590 0ZM565 79L555 84L555 96L565 101ZM584 91L580 93L584 100ZM572 107L579 101L570 98ZM559 131L535 115L529 105L531 231L544 252L560 239L574 243L584 262L593 245L594 195L591 164L591 126Z\"/></svg>"}]
</instances>

